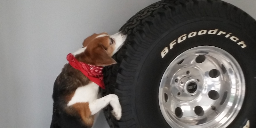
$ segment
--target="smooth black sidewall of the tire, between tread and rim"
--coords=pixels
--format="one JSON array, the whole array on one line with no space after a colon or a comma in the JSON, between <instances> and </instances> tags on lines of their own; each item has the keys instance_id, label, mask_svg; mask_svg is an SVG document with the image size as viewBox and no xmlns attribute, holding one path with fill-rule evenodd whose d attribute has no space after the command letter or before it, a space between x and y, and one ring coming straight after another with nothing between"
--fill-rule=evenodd
<instances>
[{"instance_id":1,"label":"smooth black sidewall of the tire, between tread and rim","mask_svg":"<svg viewBox=\"0 0 256 128\"><path fill-rule=\"evenodd\" d=\"M218 29L216 34L208 34L209 30ZM188 38L191 32L199 32L207 30L206 34L196 35ZM239 41L244 41L245 48L238 45L239 41L234 42L225 35L217 35L220 31L224 31L231 36L236 36ZM187 37L184 41L178 43L178 38L184 34ZM136 37L134 37L136 38ZM181 38L182 39L182 38ZM176 44L170 50L170 43L176 40ZM176 27L170 28L164 34L152 41L150 50L140 60L140 71L137 74L136 84L134 84L135 98L133 101L134 111L136 111L137 119L141 127L147 128L171 128L162 116L159 101L158 90L161 78L168 65L182 52L197 46L215 46L230 53L240 64L246 82L246 94L243 106L236 119L228 126L228 128L240 128L246 124L248 119L255 120L255 113L252 103L256 102L256 52L255 52L255 32L249 32L243 28L230 22L223 22L219 19L194 19L188 22L180 23ZM168 48L168 52L162 58L161 52L164 48ZM254 124L255 125L255 124Z\"/></svg>"}]
</instances>

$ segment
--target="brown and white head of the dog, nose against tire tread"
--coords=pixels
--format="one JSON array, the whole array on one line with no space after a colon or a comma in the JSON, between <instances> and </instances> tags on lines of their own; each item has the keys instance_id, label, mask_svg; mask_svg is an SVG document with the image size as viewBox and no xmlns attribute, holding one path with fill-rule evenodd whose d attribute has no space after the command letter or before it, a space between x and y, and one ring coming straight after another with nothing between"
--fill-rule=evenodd
<instances>
[{"instance_id":1,"label":"brown and white head of the dog, nose against tire tread","mask_svg":"<svg viewBox=\"0 0 256 128\"><path fill-rule=\"evenodd\" d=\"M122 32L118 32L112 36L109 36L107 33L94 33L84 40L84 48L78 54L84 53L84 56L80 55L80 58L84 57L86 62L92 65L107 66L116 64L116 61L111 56L124 44L125 39L126 35L122 34Z\"/></svg>"}]
</instances>

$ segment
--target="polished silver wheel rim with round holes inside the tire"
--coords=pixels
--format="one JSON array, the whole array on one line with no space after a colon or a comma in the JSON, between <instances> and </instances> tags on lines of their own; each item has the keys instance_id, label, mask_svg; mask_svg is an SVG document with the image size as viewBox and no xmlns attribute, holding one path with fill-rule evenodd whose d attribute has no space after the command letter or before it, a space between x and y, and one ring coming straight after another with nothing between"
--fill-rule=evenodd
<instances>
[{"instance_id":1,"label":"polished silver wheel rim with round holes inside the tire","mask_svg":"<svg viewBox=\"0 0 256 128\"><path fill-rule=\"evenodd\" d=\"M243 105L244 74L228 52L199 46L171 62L158 94L161 112L172 128L223 128Z\"/></svg>"}]
</instances>

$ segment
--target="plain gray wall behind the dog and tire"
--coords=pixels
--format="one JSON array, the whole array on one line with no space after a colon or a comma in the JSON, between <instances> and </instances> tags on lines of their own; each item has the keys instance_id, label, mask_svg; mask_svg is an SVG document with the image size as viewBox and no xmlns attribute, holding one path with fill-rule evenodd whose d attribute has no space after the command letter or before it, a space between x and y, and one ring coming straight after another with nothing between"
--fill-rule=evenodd
<instances>
[{"instance_id":1,"label":"plain gray wall behind the dog and tire","mask_svg":"<svg viewBox=\"0 0 256 128\"><path fill-rule=\"evenodd\" d=\"M1 0L0 128L47 128L66 55L158 0ZM226 0L256 18L255 0ZM101 114L95 128L108 128Z\"/></svg>"}]
</instances>

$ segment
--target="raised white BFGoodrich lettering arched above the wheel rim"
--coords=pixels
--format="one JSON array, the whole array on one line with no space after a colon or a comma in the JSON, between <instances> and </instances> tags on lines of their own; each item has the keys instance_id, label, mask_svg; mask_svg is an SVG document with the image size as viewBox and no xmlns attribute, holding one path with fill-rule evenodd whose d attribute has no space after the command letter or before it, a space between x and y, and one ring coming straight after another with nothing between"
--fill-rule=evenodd
<instances>
[{"instance_id":1,"label":"raised white BFGoodrich lettering arched above the wheel rim","mask_svg":"<svg viewBox=\"0 0 256 128\"><path fill-rule=\"evenodd\" d=\"M239 43L236 43L238 44L239 46L241 46L241 48L245 48L247 47L247 45L245 44L244 41L241 41L239 40L238 37L236 36L233 36L232 33L228 33L227 32L224 32L224 31L219 31L219 29L212 29L212 30L209 30L208 33L207 33L207 30L200 30L199 32L191 32L188 34L183 34L182 36L180 36L178 38L178 40L174 40L172 41L170 44L169 44L169 48L170 50L173 48L173 46L177 43L181 43L183 41L185 41L187 38L191 38L191 37L194 37L194 36L197 36L197 35L204 35L204 34L209 34L209 35L218 35L218 36L225 36L226 38L229 38L230 40L234 41L234 42L238 42L240 41ZM232 36L231 36L232 35ZM231 37L230 37L231 36ZM177 42L176 42L177 41ZM161 56L162 58L164 58L164 56L169 52L169 49L168 47L165 47L164 50L161 52Z\"/></svg>"}]
</instances>

